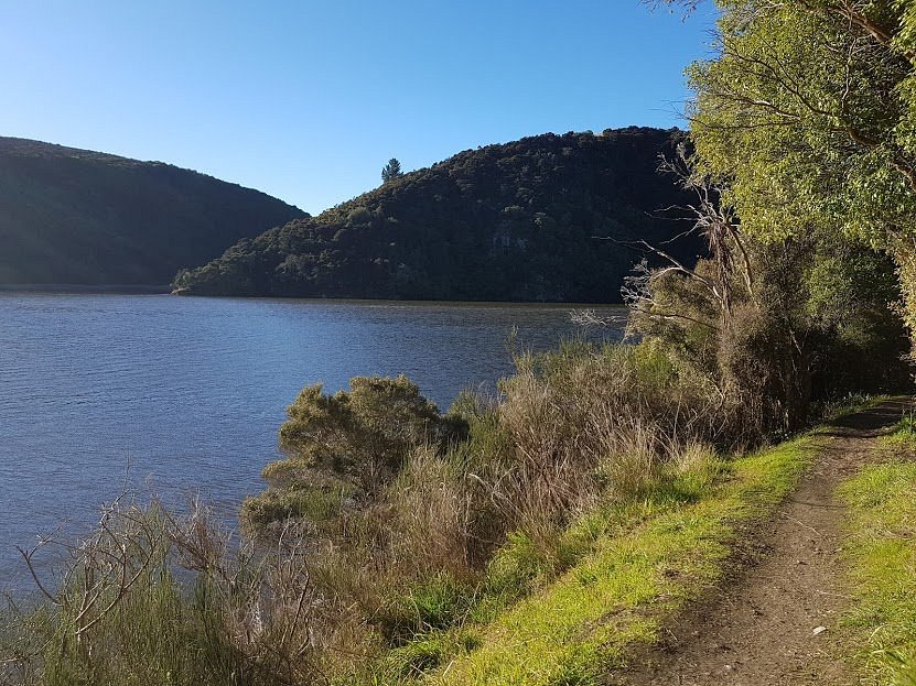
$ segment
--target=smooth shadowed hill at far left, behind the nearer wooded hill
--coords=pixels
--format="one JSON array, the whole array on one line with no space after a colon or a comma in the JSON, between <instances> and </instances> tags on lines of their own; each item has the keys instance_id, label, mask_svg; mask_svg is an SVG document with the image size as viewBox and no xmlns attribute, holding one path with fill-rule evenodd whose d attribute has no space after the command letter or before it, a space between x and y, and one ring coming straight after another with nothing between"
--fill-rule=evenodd
<instances>
[{"instance_id":1,"label":"smooth shadowed hill at far left, behind the nearer wooded hill","mask_svg":"<svg viewBox=\"0 0 916 686\"><path fill-rule=\"evenodd\" d=\"M302 216L169 164L0 137L0 283L168 284Z\"/></svg>"}]
</instances>

